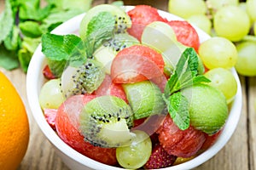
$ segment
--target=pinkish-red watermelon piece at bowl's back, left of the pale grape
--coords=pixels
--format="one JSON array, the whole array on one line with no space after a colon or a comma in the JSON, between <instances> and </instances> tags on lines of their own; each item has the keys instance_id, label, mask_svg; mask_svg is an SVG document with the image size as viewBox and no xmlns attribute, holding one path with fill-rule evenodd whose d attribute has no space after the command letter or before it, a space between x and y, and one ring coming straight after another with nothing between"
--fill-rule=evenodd
<instances>
[{"instance_id":1,"label":"pinkish-red watermelon piece at bowl's back, left of the pale grape","mask_svg":"<svg viewBox=\"0 0 256 170\"><path fill-rule=\"evenodd\" d=\"M128 15L131 17L131 28L128 29L128 32L138 40L141 40L145 26L154 21L166 21L158 14L156 8L148 5L137 5L128 11Z\"/></svg>"}]
</instances>

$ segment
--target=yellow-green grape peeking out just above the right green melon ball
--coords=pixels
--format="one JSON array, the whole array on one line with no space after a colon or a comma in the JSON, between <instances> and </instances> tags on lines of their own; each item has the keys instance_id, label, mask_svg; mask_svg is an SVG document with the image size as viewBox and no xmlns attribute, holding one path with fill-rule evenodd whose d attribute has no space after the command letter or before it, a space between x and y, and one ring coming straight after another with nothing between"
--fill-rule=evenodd
<instances>
[{"instance_id":1,"label":"yellow-green grape peeking out just above the right green melon ball","mask_svg":"<svg viewBox=\"0 0 256 170\"><path fill-rule=\"evenodd\" d=\"M237 82L231 71L224 68L215 68L205 73L205 76L211 80L208 84L218 88L225 96L227 103L234 99L237 91Z\"/></svg>"}]
</instances>

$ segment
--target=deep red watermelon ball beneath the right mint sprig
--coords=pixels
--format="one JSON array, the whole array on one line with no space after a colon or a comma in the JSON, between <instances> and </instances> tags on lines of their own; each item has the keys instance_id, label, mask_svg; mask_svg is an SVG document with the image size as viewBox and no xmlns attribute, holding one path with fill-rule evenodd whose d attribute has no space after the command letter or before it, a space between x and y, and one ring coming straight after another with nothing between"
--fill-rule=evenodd
<instances>
[{"instance_id":1,"label":"deep red watermelon ball beneath the right mint sprig","mask_svg":"<svg viewBox=\"0 0 256 170\"><path fill-rule=\"evenodd\" d=\"M205 142L205 134L190 126L180 130L167 115L165 121L158 129L159 141L166 152L179 157L194 156Z\"/></svg>"}]
</instances>

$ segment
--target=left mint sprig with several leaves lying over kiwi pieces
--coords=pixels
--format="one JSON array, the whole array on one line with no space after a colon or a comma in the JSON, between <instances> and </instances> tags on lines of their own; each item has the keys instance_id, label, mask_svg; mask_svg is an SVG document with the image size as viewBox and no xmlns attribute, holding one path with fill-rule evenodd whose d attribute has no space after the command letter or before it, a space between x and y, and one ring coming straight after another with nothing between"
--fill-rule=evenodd
<instances>
[{"instance_id":1,"label":"left mint sprig with several leaves lying over kiwi pieces","mask_svg":"<svg viewBox=\"0 0 256 170\"><path fill-rule=\"evenodd\" d=\"M73 34L44 34L42 36L42 52L48 59L49 69L55 77L61 77L66 65L84 64L96 48L113 37L114 22L113 15L108 12L96 14L88 24L84 40Z\"/></svg>"}]
</instances>

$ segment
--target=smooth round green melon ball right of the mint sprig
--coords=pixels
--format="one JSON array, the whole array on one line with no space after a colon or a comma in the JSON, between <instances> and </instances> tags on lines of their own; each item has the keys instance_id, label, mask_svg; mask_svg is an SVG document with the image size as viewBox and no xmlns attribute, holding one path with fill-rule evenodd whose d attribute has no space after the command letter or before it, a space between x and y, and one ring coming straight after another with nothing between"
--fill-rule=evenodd
<instances>
[{"instance_id":1,"label":"smooth round green melon ball right of the mint sprig","mask_svg":"<svg viewBox=\"0 0 256 170\"><path fill-rule=\"evenodd\" d=\"M224 94L207 84L184 88L189 99L190 124L198 130L212 134L221 129L228 118L228 105Z\"/></svg>"}]
</instances>

